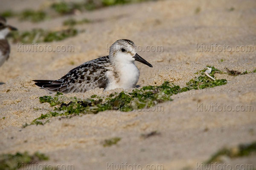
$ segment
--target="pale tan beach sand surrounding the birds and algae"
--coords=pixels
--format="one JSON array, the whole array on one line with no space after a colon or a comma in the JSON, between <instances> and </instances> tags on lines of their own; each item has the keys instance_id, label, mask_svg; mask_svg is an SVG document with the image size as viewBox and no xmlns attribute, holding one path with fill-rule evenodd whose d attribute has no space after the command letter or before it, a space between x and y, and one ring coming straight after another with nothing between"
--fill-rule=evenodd
<instances>
[{"instance_id":1,"label":"pale tan beach sand surrounding the birds and algae","mask_svg":"<svg viewBox=\"0 0 256 170\"><path fill-rule=\"evenodd\" d=\"M3 3L7 2L4 0ZM31 0L25 0L30 3ZM35 8L47 1L32 4ZM15 1L22 10L23 2ZM38 5L39 4L39 5ZM7 4L9 8L13 4ZM196 9L200 7L197 13ZM234 10L230 10L230 8ZM163 46L162 52L138 52L153 65L140 69L138 85L160 85L169 81L185 86L195 72L213 65L221 71L256 69L256 2L254 0L165 0L103 8L73 16L101 22L76 26L85 32L76 37L47 45L73 45L74 52L18 52L11 44L9 60L0 68L0 153L40 151L50 157L47 164L73 164L76 170L110 169L109 164L162 164L166 170L195 169L224 146L236 146L256 140L256 73L237 77L216 74L227 85L192 90L172 96L163 111L105 111L71 119L52 118L44 126L22 128L41 114L48 104L38 97L49 95L34 85L32 79L58 79L70 69L90 59L108 55L114 41L122 38L145 48ZM8 23L20 30L45 28L58 30L69 17L42 23ZM198 52L198 45L250 45L250 52ZM41 43L39 45L44 45ZM86 99L92 94L106 96L122 89L65 94ZM54 94L51 94L54 95ZM198 111L198 105L253 106L253 111ZM40 110L33 108L41 107ZM199 107L200 108L200 107ZM2 119L5 117L5 119ZM141 134L157 130L158 136L142 139ZM118 136L118 144L103 147L105 139ZM255 155L228 159L228 164L253 164ZM43 164L42 163L42 164ZM153 168L151 168L153 169Z\"/></svg>"}]
</instances>

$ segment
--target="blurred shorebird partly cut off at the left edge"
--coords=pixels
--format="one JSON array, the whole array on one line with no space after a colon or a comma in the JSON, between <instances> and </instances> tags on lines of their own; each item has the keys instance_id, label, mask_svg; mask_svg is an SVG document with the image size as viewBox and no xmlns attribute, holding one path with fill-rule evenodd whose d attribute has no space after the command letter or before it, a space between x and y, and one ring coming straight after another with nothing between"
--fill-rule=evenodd
<instances>
[{"instance_id":1,"label":"blurred shorebird partly cut off at the left edge","mask_svg":"<svg viewBox=\"0 0 256 170\"><path fill-rule=\"evenodd\" d=\"M0 66L9 59L10 45L6 40L6 36L12 30L17 30L17 28L6 25L6 19L0 16Z\"/></svg>"}]
</instances>

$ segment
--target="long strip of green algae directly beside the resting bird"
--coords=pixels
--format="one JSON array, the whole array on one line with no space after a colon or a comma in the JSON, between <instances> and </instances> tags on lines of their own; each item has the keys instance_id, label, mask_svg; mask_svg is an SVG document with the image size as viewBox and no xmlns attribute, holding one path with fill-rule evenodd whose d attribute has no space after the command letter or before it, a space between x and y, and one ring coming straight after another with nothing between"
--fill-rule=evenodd
<instances>
[{"instance_id":1,"label":"long strip of green algae directly beside the resting bird","mask_svg":"<svg viewBox=\"0 0 256 170\"><path fill-rule=\"evenodd\" d=\"M210 75L212 77L214 77L216 72L222 73L213 66L211 68L212 72ZM44 125L46 122L49 122L49 118L56 116L71 117L79 114L96 114L101 111L108 110L128 112L143 108L151 108L157 104L172 101L171 96L174 94L193 89L213 88L215 86L227 84L226 79L217 79L213 81L209 77L205 76L204 71L206 71L206 69L198 71L198 74L201 75L191 79L183 88L169 82L163 82L163 84L159 86L148 85L140 89L135 88L131 92L122 91L119 94L113 93L106 98L92 95L90 98L83 100L77 98L65 99L61 93L57 93L53 97L42 96L39 97L40 102L49 103L51 107L55 106L54 111L41 114L41 116L33 120L30 125ZM28 124L25 124L23 127L26 127L27 125Z\"/></svg>"}]
</instances>

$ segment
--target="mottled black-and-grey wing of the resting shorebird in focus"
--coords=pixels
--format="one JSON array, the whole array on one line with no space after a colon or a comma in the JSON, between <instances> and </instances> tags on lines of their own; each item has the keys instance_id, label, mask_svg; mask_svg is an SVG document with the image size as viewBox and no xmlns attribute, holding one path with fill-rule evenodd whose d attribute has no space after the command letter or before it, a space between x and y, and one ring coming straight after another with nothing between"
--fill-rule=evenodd
<instances>
[{"instance_id":1,"label":"mottled black-and-grey wing of the resting shorebird in focus","mask_svg":"<svg viewBox=\"0 0 256 170\"><path fill-rule=\"evenodd\" d=\"M56 80L55 84L61 85L55 89L52 86L49 90L57 90L65 93L85 92L94 88L106 88L108 78L106 72L110 66L109 57L94 59L70 70L64 77ZM47 85L44 86L47 88Z\"/></svg>"}]
</instances>

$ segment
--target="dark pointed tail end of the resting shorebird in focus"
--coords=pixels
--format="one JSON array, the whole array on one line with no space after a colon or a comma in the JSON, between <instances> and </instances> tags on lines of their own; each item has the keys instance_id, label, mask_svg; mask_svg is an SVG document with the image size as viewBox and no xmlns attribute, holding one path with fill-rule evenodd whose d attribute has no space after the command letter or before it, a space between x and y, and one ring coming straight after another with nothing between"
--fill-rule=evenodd
<instances>
[{"instance_id":1,"label":"dark pointed tail end of the resting shorebird in focus","mask_svg":"<svg viewBox=\"0 0 256 170\"><path fill-rule=\"evenodd\" d=\"M62 81L60 80L32 80L35 82L35 85L45 88L48 91L58 91L61 87Z\"/></svg>"}]
</instances>

